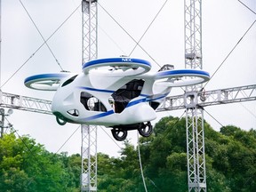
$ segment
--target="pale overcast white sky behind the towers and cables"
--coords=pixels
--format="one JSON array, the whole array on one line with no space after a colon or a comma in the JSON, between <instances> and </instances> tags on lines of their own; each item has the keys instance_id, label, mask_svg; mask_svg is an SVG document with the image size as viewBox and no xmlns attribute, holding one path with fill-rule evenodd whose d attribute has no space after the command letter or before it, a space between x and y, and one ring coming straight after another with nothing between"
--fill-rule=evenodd
<instances>
[{"instance_id":1,"label":"pale overcast white sky behind the towers and cables","mask_svg":"<svg viewBox=\"0 0 256 192\"><path fill-rule=\"evenodd\" d=\"M68 18L81 3L79 0L22 0L31 18L35 21L41 34L47 39L52 36L56 28ZM111 14L115 20L136 40L148 28L165 0L105 0L100 5ZM256 12L255 0L244 0ZM226 58L244 32L256 20L256 15L243 4L235 0L203 1L203 66L204 70L213 74L220 63ZM118 57L132 52L135 43L116 25L106 12L99 6L99 58ZM52 52L65 70L81 71L81 7L48 41ZM19 0L2 0L2 52L1 52L1 84L25 63L44 43L29 20L27 12ZM173 64L175 68L184 68L184 1L171 1L156 18L140 45L150 54L158 64ZM256 24L235 51L228 57L223 66L206 86L206 90L236 87L240 85L256 84ZM132 52L132 57L152 61L153 69L159 67L139 47ZM52 99L52 92L30 90L23 84L27 76L36 74L59 72L55 59L44 45L28 60L11 80L2 87L3 92L10 92L45 100ZM173 91L172 95L181 93ZM220 105L205 108L221 124L234 124L244 130L256 128L256 101ZM180 116L183 110L161 113L160 116ZM167 114L167 115L166 115ZM56 152L78 124L60 126L54 116L34 114L15 110L7 117L20 135L29 134L36 142L44 144L45 148ZM215 130L220 124L204 113L204 118L212 124ZM105 129L111 135L110 129ZM130 134L129 134L130 133ZM132 131L128 137L137 142L137 134ZM99 128L98 151L110 156L117 156L119 147ZM120 146L122 143L118 142ZM68 154L80 153L81 132L76 131L68 143L60 151Z\"/></svg>"}]
</instances>

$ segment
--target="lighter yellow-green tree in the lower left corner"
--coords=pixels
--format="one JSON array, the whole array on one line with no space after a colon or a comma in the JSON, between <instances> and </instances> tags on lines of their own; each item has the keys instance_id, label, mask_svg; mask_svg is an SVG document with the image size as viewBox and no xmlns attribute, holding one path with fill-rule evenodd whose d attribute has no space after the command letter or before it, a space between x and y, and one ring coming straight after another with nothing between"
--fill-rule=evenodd
<instances>
[{"instance_id":1,"label":"lighter yellow-green tree in the lower left corner","mask_svg":"<svg viewBox=\"0 0 256 192\"><path fill-rule=\"evenodd\" d=\"M0 140L1 191L70 191L70 172L61 161L28 136L14 132Z\"/></svg>"}]
</instances>

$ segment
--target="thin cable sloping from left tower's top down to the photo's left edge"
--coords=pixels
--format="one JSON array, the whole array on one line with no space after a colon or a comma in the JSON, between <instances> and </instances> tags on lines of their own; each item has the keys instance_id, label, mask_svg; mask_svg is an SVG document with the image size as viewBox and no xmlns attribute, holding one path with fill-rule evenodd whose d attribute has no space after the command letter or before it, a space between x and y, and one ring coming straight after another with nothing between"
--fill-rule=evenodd
<instances>
[{"instance_id":1,"label":"thin cable sloping from left tower's top down to the photo's left edge","mask_svg":"<svg viewBox=\"0 0 256 192\"><path fill-rule=\"evenodd\" d=\"M78 8L79 8L80 6L81 6L81 4L79 4L73 12L71 12L71 14L68 16L68 18L67 18L66 20L64 20L64 21L60 24L59 28L56 28L56 29L55 29L55 31L52 33L52 35L49 36L49 37L45 40L45 42L44 42L43 44L41 44L41 45L36 49L35 52L32 53L32 55L28 58L28 60L30 60L31 58L33 58L33 57L35 56L36 52L38 52L38 51L44 46L44 44L45 44L46 42L48 42L48 41L52 38L52 36L55 35L55 33L67 22L67 20L78 10ZM20 68L18 68L18 69L12 74L12 76L10 76L10 77L4 82L4 84L1 85L0 89L2 89L3 86L4 86L5 84L7 84L7 83L12 79L12 77L15 76L15 75L20 71L20 69L23 68L23 67L28 63L28 60L26 60L26 61L20 66Z\"/></svg>"}]
</instances>

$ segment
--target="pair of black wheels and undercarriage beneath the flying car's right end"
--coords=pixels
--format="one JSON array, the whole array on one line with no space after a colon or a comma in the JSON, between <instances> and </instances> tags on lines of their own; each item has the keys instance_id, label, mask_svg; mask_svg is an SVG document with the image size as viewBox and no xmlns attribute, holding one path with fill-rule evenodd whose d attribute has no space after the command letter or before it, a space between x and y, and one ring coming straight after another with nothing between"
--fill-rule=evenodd
<instances>
[{"instance_id":1,"label":"pair of black wheels and undercarriage beneath the flying car's right end","mask_svg":"<svg viewBox=\"0 0 256 192\"><path fill-rule=\"evenodd\" d=\"M130 130L138 130L141 136L149 137L153 132L153 127L150 122L147 124L129 124L129 125L119 125L118 127L114 127L111 132L113 137L118 141L123 141L126 139L128 131Z\"/></svg>"}]
</instances>

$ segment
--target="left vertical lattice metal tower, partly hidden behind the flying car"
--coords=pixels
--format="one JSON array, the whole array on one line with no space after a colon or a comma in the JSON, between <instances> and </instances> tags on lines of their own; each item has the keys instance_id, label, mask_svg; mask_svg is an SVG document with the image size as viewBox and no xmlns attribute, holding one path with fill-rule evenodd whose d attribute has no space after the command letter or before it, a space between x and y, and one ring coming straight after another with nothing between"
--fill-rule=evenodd
<instances>
[{"instance_id":1,"label":"left vertical lattice metal tower, partly hidden behind the flying car","mask_svg":"<svg viewBox=\"0 0 256 192\"><path fill-rule=\"evenodd\" d=\"M82 1L82 64L98 57L97 1ZM97 191L97 126L81 125L81 191Z\"/></svg>"}]
</instances>

